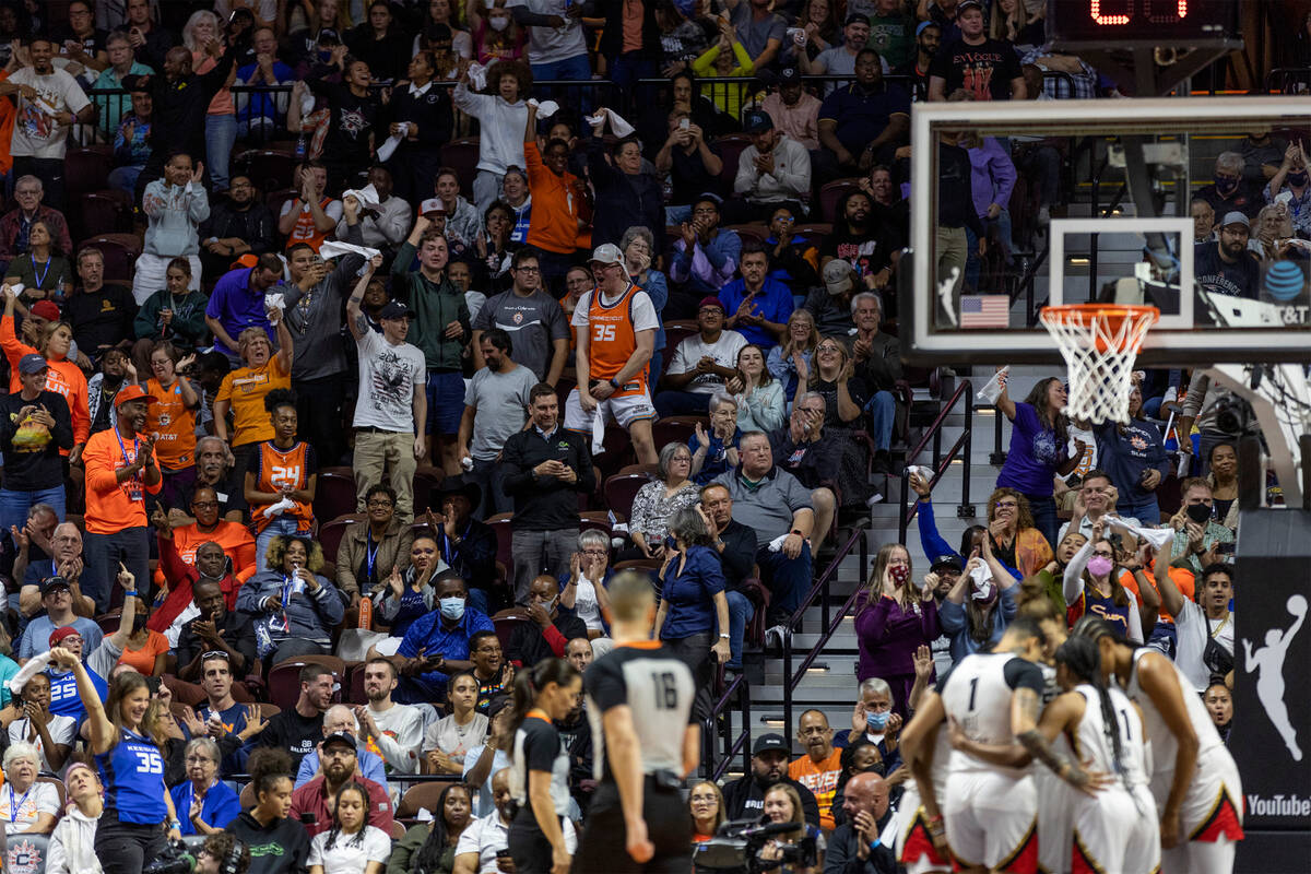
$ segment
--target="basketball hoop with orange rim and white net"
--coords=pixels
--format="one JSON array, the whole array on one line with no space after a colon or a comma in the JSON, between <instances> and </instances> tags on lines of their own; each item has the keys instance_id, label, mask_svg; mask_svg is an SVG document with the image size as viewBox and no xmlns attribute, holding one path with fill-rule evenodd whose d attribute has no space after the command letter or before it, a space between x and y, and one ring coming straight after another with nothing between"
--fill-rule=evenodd
<instances>
[{"instance_id":1,"label":"basketball hoop with orange rim and white net","mask_svg":"<svg viewBox=\"0 0 1311 874\"><path fill-rule=\"evenodd\" d=\"M1042 325L1070 367L1066 415L1092 423L1129 421L1134 359L1148 329L1160 318L1155 307L1066 304L1044 307Z\"/></svg>"}]
</instances>

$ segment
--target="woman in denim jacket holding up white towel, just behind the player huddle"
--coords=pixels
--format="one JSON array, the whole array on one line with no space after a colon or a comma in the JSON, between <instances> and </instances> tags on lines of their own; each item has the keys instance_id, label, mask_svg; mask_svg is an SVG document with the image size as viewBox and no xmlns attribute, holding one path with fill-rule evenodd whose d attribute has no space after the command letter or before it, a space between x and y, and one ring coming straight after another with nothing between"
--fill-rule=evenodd
<instances>
[{"instance_id":1,"label":"woman in denim jacket holding up white towel, just behind the player huddle","mask_svg":"<svg viewBox=\"0 0 1311 874\"><path fill-rule=\"evenodd\" d=\"M939 607L943 633L952 641L953 662L1002 639L1006 626L1015 618L1016 582L992 556L985 537L982 554L975 550Z\"/></svg>"}]
</instances>

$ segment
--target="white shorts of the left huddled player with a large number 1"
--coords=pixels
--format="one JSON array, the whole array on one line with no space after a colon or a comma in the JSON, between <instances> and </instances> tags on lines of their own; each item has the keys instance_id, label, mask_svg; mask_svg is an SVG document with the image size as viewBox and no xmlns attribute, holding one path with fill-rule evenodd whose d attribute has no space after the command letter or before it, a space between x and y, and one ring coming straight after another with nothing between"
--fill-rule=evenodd
<instances>
[{"instance_id":1,"label":"white shorts of the left huddled player with a large number 1","mask_svg":"<svg viewBox=\"0 0 1311 874\"><path fill-rule=\"evenodd\" d=\"M1028 774L952 774L943 819L947 843L961 865L983 865L1008 874L1037 873L1038 793Z\"/></svg>"}]
</instances>

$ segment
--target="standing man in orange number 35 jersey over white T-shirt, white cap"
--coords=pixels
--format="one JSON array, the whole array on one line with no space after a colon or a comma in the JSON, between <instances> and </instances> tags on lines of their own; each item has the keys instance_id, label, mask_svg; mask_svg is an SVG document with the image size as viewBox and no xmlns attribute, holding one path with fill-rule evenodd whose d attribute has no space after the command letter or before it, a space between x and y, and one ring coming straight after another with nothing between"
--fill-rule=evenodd
<instances>
[{"instance_id":1,"label":"standing man in orange number 35 jersey over white T-shirt, white cap","mask_svg":"<svg viewBox=\"0 0 1311 874\"><path fill-rule=\"evenodd\" d=\"M585 376L565 401L565 427L579 434L594 430L594 418L614 418L628 431L641 464L656 461L652 442L649 362L659 318L650 296L628 278L624 257L614 244L591 257L597 287L574 309L577 370Z\"/></svg>"}]
</instances>

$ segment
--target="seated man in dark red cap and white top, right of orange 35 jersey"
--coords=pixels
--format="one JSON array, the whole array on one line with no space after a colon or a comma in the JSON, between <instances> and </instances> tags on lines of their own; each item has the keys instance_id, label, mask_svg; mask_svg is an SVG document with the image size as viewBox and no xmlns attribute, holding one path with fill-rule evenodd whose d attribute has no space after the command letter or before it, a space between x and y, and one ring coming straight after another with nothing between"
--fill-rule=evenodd
<instances>
[{"instance_id":1,"label":"seated man in dark red cap and white top, right of orange 35 jersey","mask_svg":"<svg viewBox=\"0 0 1311 874\"><path fill-rule=\"evenodd\" d=\"M711 398L724 392L725 380L737 375L737 354L746 338L724 329L718 297L701 300L696 326L697 334L679 342L665 372L666 390L656 396L656 411L662 417L705 414Z\"/></svg>"}]
</instances>

